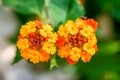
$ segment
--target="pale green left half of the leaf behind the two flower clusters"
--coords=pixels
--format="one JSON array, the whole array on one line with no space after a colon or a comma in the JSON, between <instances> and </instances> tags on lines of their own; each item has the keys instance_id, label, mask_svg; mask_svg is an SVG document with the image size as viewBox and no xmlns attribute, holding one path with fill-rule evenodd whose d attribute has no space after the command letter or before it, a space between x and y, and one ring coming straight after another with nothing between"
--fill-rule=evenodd
<instances>
[{"instance_id":1,"label":"pale green left half of the leaf behind the two flower clusters","mask_svg":"<svg viewBox=\"0 0 120 80\"><path fill-rule=\"evenodd\" d=\"M50 0L50 4L48 6L49 13L55 24L66 20L69 1L70 0Z\"/></svg>"}]
</instances>

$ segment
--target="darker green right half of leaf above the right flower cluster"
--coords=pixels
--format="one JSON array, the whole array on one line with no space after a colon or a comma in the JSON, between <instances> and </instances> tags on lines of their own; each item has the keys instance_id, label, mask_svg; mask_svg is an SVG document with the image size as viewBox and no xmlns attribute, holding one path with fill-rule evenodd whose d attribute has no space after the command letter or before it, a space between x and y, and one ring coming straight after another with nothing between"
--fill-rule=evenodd
<instances>
[{"instance_id":1,"label":"darker green right half of leaf above the right flower cluster","mask_svg":"<svg viewBox=\"0 0 120 80\"><path fill-rule=\"evenodd\" d=\"M73 1L72 8L68 11L67 20L75 20L85 14L84 7L77 1Z\"/></svg>"}]
</instances>

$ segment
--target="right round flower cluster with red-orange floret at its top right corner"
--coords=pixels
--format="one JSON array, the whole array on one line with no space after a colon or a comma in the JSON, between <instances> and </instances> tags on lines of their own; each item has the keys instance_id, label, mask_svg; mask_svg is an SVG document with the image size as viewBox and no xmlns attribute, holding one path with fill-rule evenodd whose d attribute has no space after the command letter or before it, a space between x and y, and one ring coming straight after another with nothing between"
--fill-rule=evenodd
<instances>
[{"instance_id":1,"label":"right round flower cluster with red-orange floret at its top right corner","mask_svg":"<svg viewBox=\"0 0 120 80\"><path fill-rule=\"evenodd\" d=\"M97 22L93 19L79 18L75 22L68 20L58 30L58 56L65 58L71 65L79 59L89 62L97 49L95 32Z\"/></svg>"}]
</instances>

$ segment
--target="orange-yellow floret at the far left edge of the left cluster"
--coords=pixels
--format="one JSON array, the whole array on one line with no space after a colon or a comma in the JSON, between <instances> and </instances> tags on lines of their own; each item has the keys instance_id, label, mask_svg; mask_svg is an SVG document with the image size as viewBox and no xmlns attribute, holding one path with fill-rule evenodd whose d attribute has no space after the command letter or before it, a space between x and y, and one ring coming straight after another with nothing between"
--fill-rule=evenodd
<instances>
[{"instance_id":1,"label":"orange-yellow floret at the far left edge of the left cluster","mask_svg":"<svg viewBox=\"0 0 120 80\"><path fill-rule=\"evenodd\" d=\"M17 47L18 47L20 50L29 48L28 39L26 39L26 38L24 38L24 39L19 39L19 40L17 41Z\"/></svg>"}]
</instances>

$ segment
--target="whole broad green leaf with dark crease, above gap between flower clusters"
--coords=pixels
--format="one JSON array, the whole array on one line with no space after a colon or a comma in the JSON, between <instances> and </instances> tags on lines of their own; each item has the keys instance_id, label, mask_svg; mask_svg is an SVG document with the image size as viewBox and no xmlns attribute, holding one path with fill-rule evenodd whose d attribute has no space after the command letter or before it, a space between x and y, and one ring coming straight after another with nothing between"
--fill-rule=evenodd
<instances>
[{"instance_id":1,"label":"whole broad green leaf with dark crease, above gap between flower clusters","mask_svg":"<svg viewBox=\"0 0 120 80\"><path fill-rule=\"evenodd\" d=\"M68 19L75 20L85 14L83 6L76 0L51 0L48 8L55 25Z\"/></svg>"}]
</instances>

